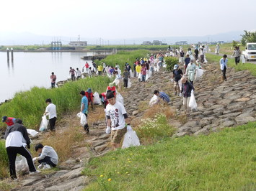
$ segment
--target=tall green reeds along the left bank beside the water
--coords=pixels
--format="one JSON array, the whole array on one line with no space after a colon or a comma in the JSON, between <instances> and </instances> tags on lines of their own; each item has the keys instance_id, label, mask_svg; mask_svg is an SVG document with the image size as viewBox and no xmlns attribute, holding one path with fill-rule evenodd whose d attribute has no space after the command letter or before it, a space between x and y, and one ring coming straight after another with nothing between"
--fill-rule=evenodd
<instances>
[{"instance_id":1,"label":"tall green reeds along the left bank beside the water","mask_svg":"<svg viewBox=\"0 0 256 191\"><path fill-rule=\"evenodd\" d=\"M92 88L92 91L102 93L105 91L110 78L95 77L69 82L61 88L46 89L32 88L29 91L19 92L14 95L12 101L0 106L0 116L12 116L22 118L23 123L30 129L37 129L41 116L45 111L45 100L51 98L57 106L58 118L67 111L79 111L81 97L79 92ZM6 124L1 123L0 128Z\"/></svg>"}]
</instances>

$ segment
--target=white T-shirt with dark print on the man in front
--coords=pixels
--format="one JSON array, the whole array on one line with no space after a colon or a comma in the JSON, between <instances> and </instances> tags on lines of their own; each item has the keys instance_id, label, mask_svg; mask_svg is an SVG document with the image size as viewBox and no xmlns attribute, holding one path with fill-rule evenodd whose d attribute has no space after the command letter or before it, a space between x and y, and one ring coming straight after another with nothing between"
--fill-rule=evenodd
<instances>
[{"instance_id":1,"label":"white T-shirt with dark print on the man in front","mask_svg":"<svg viewBox=\"0 0 256 191\"><path fill-rule=\"evenodd\" d=\"M107 104L106 111L107 116L110 116L112 130L125 128L125 117L123 114L125 114L126 111L122 103L116 101L113 106L109 103Z\"/></svg>"}]
</instances>

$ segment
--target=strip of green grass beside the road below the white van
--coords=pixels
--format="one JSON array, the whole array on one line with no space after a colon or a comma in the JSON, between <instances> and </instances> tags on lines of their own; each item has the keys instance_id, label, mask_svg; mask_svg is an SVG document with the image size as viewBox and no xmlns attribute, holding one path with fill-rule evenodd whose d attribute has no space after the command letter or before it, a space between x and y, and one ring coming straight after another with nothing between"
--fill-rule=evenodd
<instances>
[{"instance_id":1,"label":"strip of green grass beside the road below the white van","mask_svg":"<svg viewBox=\"0 0 256 191\"><path fill-rule=\"evenodd\" d=\"M207 54L206 58L208 62L217 62L219 63L219 60L221 59L222 55L211 55ZM256 65L252 63L244 63L242 64L241 62L236 65L234 62L234 58L229 58L228 62L228 67L234 67L237 71L242 71L242 70L249 70L252 75L256 76Z\"/></svg>"}]
</instances>

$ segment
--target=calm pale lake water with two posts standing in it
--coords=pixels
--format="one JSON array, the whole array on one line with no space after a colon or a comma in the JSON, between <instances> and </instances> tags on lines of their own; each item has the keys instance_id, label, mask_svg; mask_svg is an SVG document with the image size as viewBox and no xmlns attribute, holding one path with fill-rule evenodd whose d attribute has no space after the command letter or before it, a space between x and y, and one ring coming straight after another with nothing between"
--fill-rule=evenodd
<instances>
[{"instance_id":1,"label":"calm pale lake water with two posts standing in it","mask_svg":"<svg viewBox=\"0 0 256 191\"><path fill-rule=\"evenodd\" d=\"M14 52L14 62L7 62L6 52L0 52L0 103L12 98L20 90L30 90L33 86L50 88L50 75L54 72L57 82L69 77L69 67L81 68L88 61L85 55L94 52ZM10 54L11 58L11 54Z\"/></svg>"}]
</instances>

